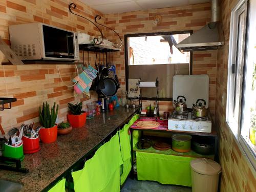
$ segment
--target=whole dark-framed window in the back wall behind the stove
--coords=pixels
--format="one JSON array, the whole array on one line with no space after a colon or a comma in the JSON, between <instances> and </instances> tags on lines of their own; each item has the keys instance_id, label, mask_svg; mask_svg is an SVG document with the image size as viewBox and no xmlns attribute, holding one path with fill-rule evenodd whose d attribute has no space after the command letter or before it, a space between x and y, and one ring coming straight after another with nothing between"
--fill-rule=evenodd
<instances>
[{"instance_id":1,"label":"whole dark-framed window in the back wall behind the stove","mask_svg":"<svg viewBox=\"0 0 256 192\"><path fill-rule=\"evenodd\" d=\"M126 90L129 90L129 82L136 79L155 81L158 77L159 97L171 100L173 76L191 74L191 53L176 48L191 33L179 31L124 35ZM155 97L155 90L143 88L143 99L151 100Z\"/></svg>"}]
</instances>

